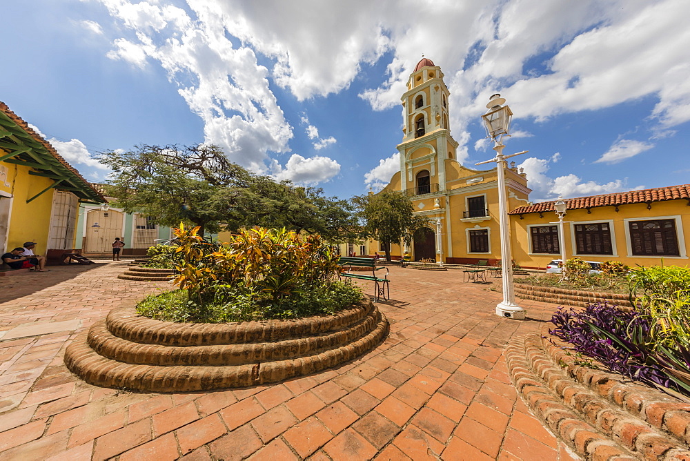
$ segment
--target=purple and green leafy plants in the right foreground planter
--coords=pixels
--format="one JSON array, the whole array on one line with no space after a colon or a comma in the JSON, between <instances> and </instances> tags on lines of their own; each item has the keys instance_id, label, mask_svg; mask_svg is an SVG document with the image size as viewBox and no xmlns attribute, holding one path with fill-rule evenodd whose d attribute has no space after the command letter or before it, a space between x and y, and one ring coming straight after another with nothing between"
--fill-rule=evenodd
<instances>
[{"instance_id":1,"label":"purple and green leafy plants in the right foreground planter","mask_svg":"<svg viewBox=\"0 0 690 461\"><path fill-rule=\"evenodd\" d=\"M627 278L635 311L561 308L550 333L612 371L690 395L690 268L640 267Z\"/></svg>"}]
</instances>

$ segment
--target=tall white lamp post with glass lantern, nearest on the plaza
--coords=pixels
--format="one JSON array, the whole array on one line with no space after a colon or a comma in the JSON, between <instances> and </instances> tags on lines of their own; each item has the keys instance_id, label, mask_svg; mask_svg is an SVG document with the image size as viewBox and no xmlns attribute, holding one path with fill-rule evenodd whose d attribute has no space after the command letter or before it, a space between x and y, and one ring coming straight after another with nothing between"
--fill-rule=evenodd
<instances>
[{"instance_id":1,"label":"tall white lamp post with glass lantern, nearest on the plaza","mask_svg":"<svg viewBox=\"0 0 690 461\"><path fill-rule=\"evenodd\" d=\"M503 137L508 135L511 126L513 112L508 106L504 106L506 100L501 95L491 96L491 101L486 104L489 112L482 115L486 133L493 139L493 150L496 157L491 160L481 161L476 165L497 164L496 173L498 175L498 213L501 230L501 270L503 275L503 301L496 306L496 315L509 317L515 320L524 320L525 311L515 302L515 292L513 291L513 253L511 252L511 235L508 217L508 199L506 198L506 159L515 155L524 154L523 150L517 154L503 155Z\"/></svg>"}]
</instances>

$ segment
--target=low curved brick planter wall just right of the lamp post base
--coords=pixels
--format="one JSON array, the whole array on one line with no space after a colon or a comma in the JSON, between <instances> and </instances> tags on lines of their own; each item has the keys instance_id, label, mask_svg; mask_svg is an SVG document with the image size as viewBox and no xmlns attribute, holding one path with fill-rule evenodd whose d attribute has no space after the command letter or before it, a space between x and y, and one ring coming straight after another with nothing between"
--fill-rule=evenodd
<instances>
[{"instance_id":1,"label":"low curved brick planter wall just right of the lamp post base","mask_svg":"<svg viewBox=\"0 0 690 461\"><path fill-rule=\"evenodd\" d=\"M515 295L523 300L552 302L567 306L586 307L595 302L608 302L622 308L632 308L628 295L620 293L598 293L595 291L567 290L555 286L515 284Z\"/></svg>"}]
</instances>

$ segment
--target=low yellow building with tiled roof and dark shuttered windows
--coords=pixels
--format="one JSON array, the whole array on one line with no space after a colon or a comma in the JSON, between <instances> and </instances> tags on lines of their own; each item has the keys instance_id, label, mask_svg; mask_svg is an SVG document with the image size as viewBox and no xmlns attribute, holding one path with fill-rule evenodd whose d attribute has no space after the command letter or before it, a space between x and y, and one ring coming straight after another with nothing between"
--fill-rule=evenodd
<instances>
[{"instance_id":1,"label":"low yellow building with tiled roof and dark shuttered windows","mask_svg":"<svg viewBox=\"0 0 690 461\"><path fill-rule=\"evenodd\" d=\"M564 199L566 258L620 261L629 266L688 264L690 184ZM544 268L560 259L553 204L520 206L511 215L513 259Z\"/></svg>"}]
</instances>

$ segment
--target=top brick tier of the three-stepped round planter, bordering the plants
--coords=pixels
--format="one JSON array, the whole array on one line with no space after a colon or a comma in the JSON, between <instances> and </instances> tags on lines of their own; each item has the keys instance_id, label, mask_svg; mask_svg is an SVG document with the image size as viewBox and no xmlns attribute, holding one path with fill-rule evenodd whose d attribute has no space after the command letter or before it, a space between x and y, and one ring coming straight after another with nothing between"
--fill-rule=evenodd
<instances>
[{"instance_id":1,"label":"top brick tier of the three-stepped round planter, bordering the plants","mask_svg":"<svg viewBox=\"0 0 690 461\"><path fill-rule=\"evenodd\" d=\"M273 342L321 335L359 322L374 311L370 300L338 311L296 320L264 320L228 324L181 324L152 320L137 313L134 307L115 308L108 313L108 331L117 337L141 344L161 346L205 346ZM184 326L184 328L181 328Z\"/></svg>"}]
</instances>

